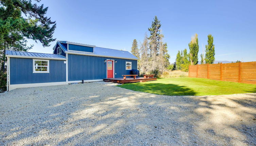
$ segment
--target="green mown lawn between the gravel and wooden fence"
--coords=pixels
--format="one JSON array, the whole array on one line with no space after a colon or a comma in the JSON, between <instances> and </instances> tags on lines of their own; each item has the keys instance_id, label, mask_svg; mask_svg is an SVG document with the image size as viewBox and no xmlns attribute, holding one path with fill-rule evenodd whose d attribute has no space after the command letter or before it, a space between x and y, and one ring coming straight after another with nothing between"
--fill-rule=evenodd
<instances>
[{"instance_id":1,"label":"green mown lawn between the gravel and wooden fence","mask_svg":"<svg viewBox=\"0 0 256 146\"><path fill-rule=\"evenodd\" d=\"M160 95L225 95L256 93L256 85L218 81L204 78L162 78L144 83L118 87Z\"/></svg>"}]
</instances>

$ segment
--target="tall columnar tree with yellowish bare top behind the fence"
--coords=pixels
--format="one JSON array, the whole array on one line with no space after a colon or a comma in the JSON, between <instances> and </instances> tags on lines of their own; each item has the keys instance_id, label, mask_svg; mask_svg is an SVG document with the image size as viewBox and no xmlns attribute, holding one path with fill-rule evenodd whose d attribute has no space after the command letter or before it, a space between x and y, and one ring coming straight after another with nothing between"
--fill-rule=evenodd
<instances>
[{"instance_id":1,"label":"tall columnar tree with yellowish bare top behind the fence","mask_svg":"<svg viewBox=\"0 0 256 146\"><path fill-rule=\"evenodd\" d=\"M191 38L191 41L189 42L188 47L189 47L190 63L191 63L191 65L197 65L198 64L198 51L199 51L197 34L195 34Z\"/></svg>"}]
</instances>

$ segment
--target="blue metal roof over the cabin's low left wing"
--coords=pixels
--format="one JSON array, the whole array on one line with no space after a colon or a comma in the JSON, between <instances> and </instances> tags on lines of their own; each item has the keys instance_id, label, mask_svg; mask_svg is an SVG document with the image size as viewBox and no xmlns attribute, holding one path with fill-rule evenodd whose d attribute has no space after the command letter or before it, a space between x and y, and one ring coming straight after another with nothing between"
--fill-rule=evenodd
<instances>
[{"instance_id":1,"label":"blue metal roof over the cabin's low left wing","mask_svg":"<svg viewBox=\"0 0 256 146\"><path fill-rule=\"evenodd\" d=\"M12 51L12 50L5 50L5 55L29 56L29 57L47 57L47 58L66 58L65 56L62 56L62 55L59 55L59 54L22 52L22 51Z\"/></svg>"}]
</instances>

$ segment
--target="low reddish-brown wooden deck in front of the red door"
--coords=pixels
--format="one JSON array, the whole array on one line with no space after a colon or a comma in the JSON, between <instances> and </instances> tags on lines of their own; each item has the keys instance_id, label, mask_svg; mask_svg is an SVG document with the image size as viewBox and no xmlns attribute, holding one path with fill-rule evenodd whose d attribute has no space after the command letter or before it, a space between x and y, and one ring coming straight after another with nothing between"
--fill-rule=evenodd
<instances>
[{"instance_id":1,"label":"low reddish-brown wooden deck in front of the red door","mask_svg":"<svg viewBox=\"0 0 256 146\"><path fill-rule=\"evenodd\" d=\"M133 77L127 77L126 79L123 78L104 78L103 81L110 81L113 83L134 83L134 82L140 82L140 80L146 80L146 81L152 81L156 80L157 78L143 78L143 77L136 77L136 79L133 79Z\"/></svg>"}]
</instances>

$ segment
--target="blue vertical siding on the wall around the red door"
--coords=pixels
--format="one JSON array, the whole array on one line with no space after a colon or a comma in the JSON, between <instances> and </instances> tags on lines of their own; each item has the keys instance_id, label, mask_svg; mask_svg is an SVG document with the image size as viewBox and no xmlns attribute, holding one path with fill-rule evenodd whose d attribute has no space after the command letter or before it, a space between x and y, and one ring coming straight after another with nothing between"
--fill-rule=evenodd
<instances>
[{"instance_id":1,"label":"blue vertical siding on the wall around the red door","mask_svg":"<svg viewBox=\"0 0 256 146\"><path fill-rule=\"evenodd\" d=\"M125 70L125 62L132 62L132 69L137 69L137 60L85 56L68 54L68 80L90 80L103 79L107 76L106 62L104 60L112 59L114 62L115 78L122 77L123 74L130 74L131 70Z\"/></svg>"}]
</instances>

